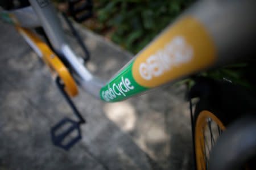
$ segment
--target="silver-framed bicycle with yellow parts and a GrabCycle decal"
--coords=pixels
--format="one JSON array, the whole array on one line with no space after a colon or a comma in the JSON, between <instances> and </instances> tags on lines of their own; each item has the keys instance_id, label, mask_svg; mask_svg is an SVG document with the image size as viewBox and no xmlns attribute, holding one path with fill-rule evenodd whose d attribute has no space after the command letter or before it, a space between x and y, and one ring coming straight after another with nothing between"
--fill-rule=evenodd
<instances>
[{"instance_id":1,"label":"silver-framed bicycle with yellow parts and a GrabCycle decal","mask_svg":"<svg viewBox=\"0 0 256 170\"><path fill-rule=\"evenodd\" d=\"M77 95L77 86L84 88L98 99L108 102L121 101L200 70L243 59L241 56L250 58L255 53L255 25L253 24L256 16L255 2L198 2L181 15L174 24L168 26L109 82L104 83L90 74L77 59L79 57L65 41L63 28L50 2L46 0L30 0L29 2L22 3L22 8L2 11L2 16L8 22L15 24L20 35L55 73L57 86L76 116L79 117L79 122L64 118L52 128L53 143L65 150L81 139L80 125L85 122L70 99ZM90 8L90 3L88 3L88 8ZM74 15L79 20L76 12ZM83 18L89 15L90 12ZM24 20L24 18L31 20ZM43 33L46 34L45 37L51 46L26 28L38 26L43 27ZM86 60L87 58L84 59L84 61ZM249 159L255 159L255 115L245 114L240 117L238 113L241 108L242 111L245 111L244 108L246 108L247 112L253 113L255 111L254 97L229 82L218 82L205 78L196 78L196 82L188 97L189 99L200 97L195 115L191 114L197 169L207 169L208 164L212 169L234 169L248 162ZM234 107L234 104L241 103L241 100L238 100L237 94L233 95L233 91L238 91L238 94L246 96L246 102L240 109ZM225 95L229 96L225 98L226 100L232 101L228 107L223 106L220 101ZM232 117L230 114L224 114L230 113L230 111L236 114L231 115ZM208 125L210 143L213 145L215 134L212 134L211 130L212 121L216 124L215 130L218 134L221 134L226 128L228 129L220 136L210 153L204 130ZM65 124L71 124L70 128L61 135L56 135L55 132ZM242 137L239 138L238 143L229 145L232 142L230 138L237 137L237 129L239 129L238 134ZM63 145L62 142L73 130L77 130L79 135ZM243 134L246 134L245 137ZM232 150L232 147L240 145L245 139L250 140L246 141L244 148ZM224 154L221 151L228 147L232 154L220 156L220 154ZM234 152L243 153L243 157L241 158ZM209 155L210 160L208 160ZM251 160L247 164L246 166L250 167Z\"/></svg>"}]
</instances>

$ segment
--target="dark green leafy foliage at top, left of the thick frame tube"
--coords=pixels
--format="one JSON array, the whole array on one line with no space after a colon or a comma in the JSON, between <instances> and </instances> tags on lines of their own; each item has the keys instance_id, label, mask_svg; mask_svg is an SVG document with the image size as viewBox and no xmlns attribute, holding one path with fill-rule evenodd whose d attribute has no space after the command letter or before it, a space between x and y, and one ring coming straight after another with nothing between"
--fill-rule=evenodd
<instances>
[{"instance_id":1,"label":"dark green leafy foliage at top, left of the thick frame tube","mask_svg":"<svg viewBox=\"0 0 256 170\"><path fill-rule=\"evenodd\" d=\"M111 39L137 53L193 0L98 0L94 1L97 32L110 30Z\"/></svg>"}]
</instances>

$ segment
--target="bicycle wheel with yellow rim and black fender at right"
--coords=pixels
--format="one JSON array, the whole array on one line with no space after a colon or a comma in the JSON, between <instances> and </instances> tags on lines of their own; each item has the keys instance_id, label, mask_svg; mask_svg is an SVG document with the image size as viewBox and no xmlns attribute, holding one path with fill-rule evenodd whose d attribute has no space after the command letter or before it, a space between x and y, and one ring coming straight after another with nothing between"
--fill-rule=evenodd
<instances>
[{"instance_id":1,"label":"bicycle wheel with yellow rim and black fender at right","mask_svg":"<svg viewBox=\"0 0 256 170\"><path fill-rule=\"evenodd\" d=\"M204 89L200 95L197 94L200 101L194 115L193 135L198 170L209 169L210 154L226 127L246 112L256 111L254 97L240 87L226 82L206 82L203 80L203 83L200 82L195 87L197 90ZM192 91L195 92L195 88ZM245 98L241 100L241 96Z\"/></svg>"}]
</instances>

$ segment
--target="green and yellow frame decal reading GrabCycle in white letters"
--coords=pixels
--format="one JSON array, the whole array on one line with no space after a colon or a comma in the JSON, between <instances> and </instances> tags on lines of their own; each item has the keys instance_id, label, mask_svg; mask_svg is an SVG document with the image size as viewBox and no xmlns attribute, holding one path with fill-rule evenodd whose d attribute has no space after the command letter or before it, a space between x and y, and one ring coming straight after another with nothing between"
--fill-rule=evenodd
<instances>
[{"instance_id":1,"label":"green and yellow frame decal reading GrabCycle in white letters","mask_svg":"<svg viewBox=\"0 0 256 170\"><path fill-rule=\"evenodd\" d=\"M120 101L213 65L216 49L204 25L186 16L162 32L100 91Z\"/></svg>"}]
</instances>

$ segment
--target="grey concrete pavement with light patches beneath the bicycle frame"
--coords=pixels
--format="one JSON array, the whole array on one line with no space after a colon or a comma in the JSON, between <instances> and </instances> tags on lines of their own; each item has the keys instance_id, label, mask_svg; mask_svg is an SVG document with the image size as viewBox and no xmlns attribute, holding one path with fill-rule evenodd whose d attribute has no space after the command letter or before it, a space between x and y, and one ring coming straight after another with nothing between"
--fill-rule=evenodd
<instances>
[{"instance_id":1,"label":"grey concrete pavement with light patches beneath the bicycle frame","mask_svg":"<svg viewBox=\"0 0 256 170\"><path fill-rule=\"evenodd\" d=\"M73 99L88 123L66 152L49 130L71 109L49 70L10 25L0 22L0 169L192 169L184 86L168 86L119 103L86 92ZM109 79L131 55L82 29L97 76ZM71 33L69 41L81 53Z\"/></svg>"}]
</instances>

